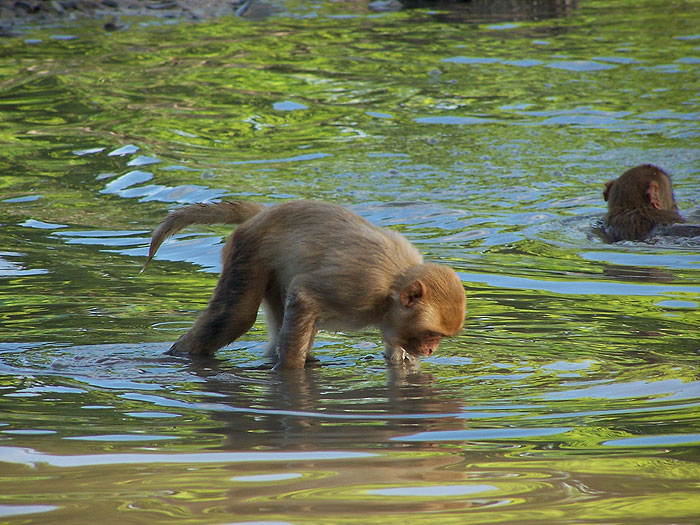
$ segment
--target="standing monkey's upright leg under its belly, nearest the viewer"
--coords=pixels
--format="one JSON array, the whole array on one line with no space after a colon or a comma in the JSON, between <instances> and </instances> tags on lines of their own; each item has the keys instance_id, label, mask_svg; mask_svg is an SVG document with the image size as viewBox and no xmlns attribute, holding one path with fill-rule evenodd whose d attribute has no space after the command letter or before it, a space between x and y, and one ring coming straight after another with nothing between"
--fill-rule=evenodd
<instances>
[{"instance_id":1,"label":"standing monkey's upright leg under its belly, nearest the viewer","mask_svg":"<svg viewBox=\"0 0 700 525\"><path fill-rule=\"evenodd\" d=\"M279 361L274 370L304 368L318 325L318 306L303 292L290 292L280 330Z\"/></svg>"}]
</instances>

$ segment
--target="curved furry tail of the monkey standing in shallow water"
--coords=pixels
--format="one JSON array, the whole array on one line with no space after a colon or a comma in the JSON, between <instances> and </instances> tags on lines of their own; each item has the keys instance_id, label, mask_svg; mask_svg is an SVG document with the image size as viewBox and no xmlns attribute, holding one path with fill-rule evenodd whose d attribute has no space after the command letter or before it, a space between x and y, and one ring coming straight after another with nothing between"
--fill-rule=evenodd
<instances>
[{"instance_id":1,"label":"curved furry tail of the monkey standing in shallow water","mask_svg":"<svg viewBox=\"0 0 700 525\"><path fill-rule=\"evenodd\" d=\"M163 241L190 224L241 224L264 209L265 206L256 202L221 201L193 204L175 210L153 231L148 259L141 268L141 273L151 262Z\"/></svg>"}]
</instances>

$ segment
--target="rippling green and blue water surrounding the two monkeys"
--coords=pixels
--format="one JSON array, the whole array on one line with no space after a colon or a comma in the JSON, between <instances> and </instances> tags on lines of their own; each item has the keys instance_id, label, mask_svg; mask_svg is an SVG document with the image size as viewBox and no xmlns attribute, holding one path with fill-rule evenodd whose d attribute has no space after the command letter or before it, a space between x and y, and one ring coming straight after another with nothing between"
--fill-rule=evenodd
<instances>
[{"instance_id":1,"label":"rippling green and blue water surrounding the two monkeys","mask_svg":"<svg viewBox=\"0 0 700 525\"><path fill-rule=\"evenodd\" d=\"M700 242L592 232L642 162L700 222L700 5L287 7L0 41L2 519L700 520ZM164 356L230 229L139 274L150 231L223 197L401 231L458 271L465 330L416 368L321 333L279 377L262 317Z\"/></svg>"}]
</instances>

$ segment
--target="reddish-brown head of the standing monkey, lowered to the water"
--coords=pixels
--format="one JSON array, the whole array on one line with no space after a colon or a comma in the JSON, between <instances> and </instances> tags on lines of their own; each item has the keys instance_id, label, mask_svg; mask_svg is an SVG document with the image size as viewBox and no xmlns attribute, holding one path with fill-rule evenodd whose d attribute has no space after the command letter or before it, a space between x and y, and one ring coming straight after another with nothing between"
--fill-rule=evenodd
<instances>
[{"instance_id":1,"label":"reddish-brown head of the standing monkey, lowered to the water","mask_svg":"<svg viewBox=\"0 0 700 525\"><path fill-rule=\"evenodd\" d=\"M391 361L430 356L443 337L462 329L462 282L452 269L427 263L411 268L397 284L381 325L384 355Z\"/></svg>"}]
</instances>

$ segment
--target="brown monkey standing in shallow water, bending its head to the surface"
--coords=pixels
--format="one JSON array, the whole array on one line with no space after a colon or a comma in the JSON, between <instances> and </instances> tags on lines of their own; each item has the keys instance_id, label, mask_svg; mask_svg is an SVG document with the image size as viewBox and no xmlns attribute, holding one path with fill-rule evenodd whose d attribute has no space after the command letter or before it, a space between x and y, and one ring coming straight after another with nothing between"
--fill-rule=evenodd
<instances>
[{"instance_id":1,"label":"brown monkey standing in shallow water, bending its head to the surface","mask_svg":"<svg viewBox=\"0 0 700 525\"><path fill-rule=\"evenodd\" d=\"M224 247L209 305L172 355L212 355L253 326L261 303L270 333L266 355L278 356L275 368L303 368L321 328L378 326L394 361L431 355L442 337L462 328L466 299L457 274L423 263L403 236L341 206L187 206L153 232L146 264L167 237L195 223L240 226Z\"/></svg>"}]
</instances>

